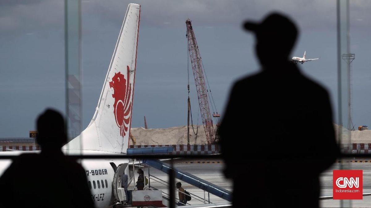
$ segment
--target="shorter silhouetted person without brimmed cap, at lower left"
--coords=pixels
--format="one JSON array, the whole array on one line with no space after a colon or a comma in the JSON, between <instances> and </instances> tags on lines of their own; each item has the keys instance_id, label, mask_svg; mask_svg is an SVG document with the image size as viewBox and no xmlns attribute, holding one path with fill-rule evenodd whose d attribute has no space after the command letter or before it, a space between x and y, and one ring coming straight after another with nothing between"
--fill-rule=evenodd
<instances>
[{"instance_id":1,"label":"shorter silhouetted person without brimmed cap, at lower left","mask_svg":"<svg viewBox=\"0 0 371 208\"><path fill-rule=\"evenodd\" d=\"M94 207L86 173L61 151L65 121L47 109L37 118L40 154L24 153L0 178L1 207Z\"/></svg>"}]
</instances>

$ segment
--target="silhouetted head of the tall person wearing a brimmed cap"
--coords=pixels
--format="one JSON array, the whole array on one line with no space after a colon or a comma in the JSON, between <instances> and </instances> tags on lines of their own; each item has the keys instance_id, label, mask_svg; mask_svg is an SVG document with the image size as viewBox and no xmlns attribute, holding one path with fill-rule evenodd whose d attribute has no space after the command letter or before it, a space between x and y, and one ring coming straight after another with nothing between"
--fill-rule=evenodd
<instances>
[{"instance_id":1,"label":"silhouetted head of the tall person wearing a brimmed cap","mask_svg":"<svg viewBox=\"0 0 371 208\"><path fill-rule=\"evenodd\" d=\"M256 54L262 66L272 66L289 60L298 36L298 28L285 15L270 13L260 23L245 21L244 29L256 35Z\"/></svg>"}]
</instances>

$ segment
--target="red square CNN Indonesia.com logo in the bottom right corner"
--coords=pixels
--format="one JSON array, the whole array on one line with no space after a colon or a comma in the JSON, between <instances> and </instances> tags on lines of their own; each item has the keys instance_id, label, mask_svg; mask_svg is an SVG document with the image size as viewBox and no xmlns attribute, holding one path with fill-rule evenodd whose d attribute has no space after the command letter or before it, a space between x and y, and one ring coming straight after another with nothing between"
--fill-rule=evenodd
<instances>
[{"instance_id":1,"label":"red square CNN Indonesia.com logo in the bottom right corner","mask_svg":"<svg viewBox=\"0 0 371 208\"><path fill-rule=\"evenodd\" d=\"M362 170L333 170L333 199L362 199Z\"/></svg>"}]
</instances>

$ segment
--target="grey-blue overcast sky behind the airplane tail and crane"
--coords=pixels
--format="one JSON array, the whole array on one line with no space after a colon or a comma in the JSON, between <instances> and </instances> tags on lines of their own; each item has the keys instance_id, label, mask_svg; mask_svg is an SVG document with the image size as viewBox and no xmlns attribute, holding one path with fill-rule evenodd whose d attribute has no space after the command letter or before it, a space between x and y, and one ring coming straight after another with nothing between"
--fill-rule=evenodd
<instances>
[{"instance_id":1,"label":"grey-blue overcast sky behind the airplane tail and crane","mask_svg":"<svg viewBox=\"0 0 371 208\"><path fill-rule=\"evenodd\" d=\"M223 115L233 81L259 70L255 37L241 25L246 19L259 21L270 11L288 14L299 27L292 56L302 57L304 51L308 58L321 56L299 67L330 91L337 119L335 0L83 0L83 128L97 105L128 3L141 4L132 127L144 126L143 116L149 128L187 124L187 18L192 20L215 104ZM370 9L371 1L351 1L356 126L371 125ZM63 12L62 0L0 1L0 137L27 137L46 107L65 113ZM272 51L272 56L277 53ZM192 77L191 103L197 123ZM248 117L244 112L241 116ZM274 125L269 118L266 123Z\"/></svg>"}]
</instances>

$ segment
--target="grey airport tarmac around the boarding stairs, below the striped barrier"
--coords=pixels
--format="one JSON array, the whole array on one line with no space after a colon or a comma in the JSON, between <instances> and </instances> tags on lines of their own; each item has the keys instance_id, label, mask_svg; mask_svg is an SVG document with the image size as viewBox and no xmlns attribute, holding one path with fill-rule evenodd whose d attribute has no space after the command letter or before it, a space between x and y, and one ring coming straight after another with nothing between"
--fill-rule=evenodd
<instances>
[{"instance_id":1,"label":"grey airport tarmac around the boarding stairs, below the striped barrier","mask_svg":"<svg viewBox=\"0 0 371 208\"><path fill-rule=\"evenodd\" d=\"M362 160L364 161L364 160ZM193 163L181 163L175 164L176 168L193 174L199 178L209 181L215 185L225 188L229 191L233 191L233 184L231 180L224 178L222 174L223 163L221 161L193 161ZM331 168L326 170L320 177L321 181L321 196L332 195L332 170L340 170L342 164L335 163ZM348 162L343 165L349 166L352 170L363 170L363 192L371 192L371 162ZM145 169L145 175L148 175L148 168ZM168 181L168 176L163 172L150 168L151 175L154 175L161 180ZM203 204L204 196L205 200L209 199L207 192L204 193L203 190L193 187L190 184L182 182L180 180L175 180L175 182L181 182L182 187L192 194L196 194L200 197L200 201L193 197L188 203L191 205ZM163 182L162 182L163 183ZM151 180L151 186L161 189L163 192L168 193L168 187L161 184L160 182L155 182ZM177 196L177 194L176 194ZM289 200L289 197L288 197ZM226 202L224 199L216 197L210 194L210 201L212 203ZM362 200L351 200L351 207L371 207L371 196L363 197ZM300 207L300 205L298 205ZM340 207L340 200L326 199L320 200L320 207Z\"/></svg>"}]
</instances>

